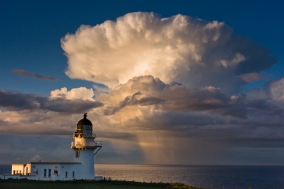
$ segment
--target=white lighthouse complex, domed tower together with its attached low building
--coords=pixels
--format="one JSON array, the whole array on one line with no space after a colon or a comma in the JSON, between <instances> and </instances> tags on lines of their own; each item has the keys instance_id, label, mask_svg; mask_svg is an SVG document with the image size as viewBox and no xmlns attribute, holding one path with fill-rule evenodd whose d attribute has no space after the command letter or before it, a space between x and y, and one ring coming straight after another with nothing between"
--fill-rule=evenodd
<instances>
[{"instance_id":1,"label":"white lighthouse complex, domed tower together with its attached low building","mask_svg":"<svg viewBox=\"0 0 284 189\"><path fill-rule=\"evenodd\" d=\"M12 164L11 175L0 174L1 179L27 178L30 180L101 180L94 177L94 154L102 148L102 142L95 142L96 135L92 133L92 122L84 118L78 121L77 130L73 134L73 162L31 162L27 164ZM96 151L94 153L94 151Z\"/></svg>"}]
</instances>

